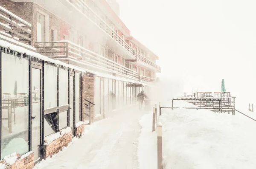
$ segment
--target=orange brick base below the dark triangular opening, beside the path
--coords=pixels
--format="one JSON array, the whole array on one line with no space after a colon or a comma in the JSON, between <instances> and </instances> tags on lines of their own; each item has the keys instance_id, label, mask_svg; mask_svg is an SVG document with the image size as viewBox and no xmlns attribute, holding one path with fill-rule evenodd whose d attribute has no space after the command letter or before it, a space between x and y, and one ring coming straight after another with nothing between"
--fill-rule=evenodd
<instances>
[{"instance_id":1,"label":"orange brick base below the dark triangular opening, beside the path","mask_svg":"<svg viewBox=\"0 0 256 169\"><path fill-rule=\"evenodd\" d=\"M60 132L61 133L61 132ZM51 135L49 135L51 136ZM44 140L44 158L52 157L52 155L57 154L62 150L62 147L67 146L72 141L72 131L61 135L59 138L56 138L54 141L47 143L47 140Z\"/></svg>"}]
</instances>

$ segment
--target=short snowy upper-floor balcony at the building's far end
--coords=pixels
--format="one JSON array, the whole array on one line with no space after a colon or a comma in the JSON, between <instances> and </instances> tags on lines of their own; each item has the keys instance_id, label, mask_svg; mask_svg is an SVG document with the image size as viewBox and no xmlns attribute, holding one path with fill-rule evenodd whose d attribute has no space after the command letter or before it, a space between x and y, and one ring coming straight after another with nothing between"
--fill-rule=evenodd
<instances>
[{"instance_id":1,"label":"short snowy upper-floor balcony at the building's far end","mask_svg":"<svg viewBox=\"0 0 256 169\"><path fill-rule=\"evenodd\" d=\"M146 57L144 57L144 56L142 56L138 53L136 53L135 57L137 59L137 64L138 65L145 66L146 68L150 68L150 69L156 71L157 73L161 73L160 66L158 66L154 62L150 61Z\"/></svg>"}]
</instances>

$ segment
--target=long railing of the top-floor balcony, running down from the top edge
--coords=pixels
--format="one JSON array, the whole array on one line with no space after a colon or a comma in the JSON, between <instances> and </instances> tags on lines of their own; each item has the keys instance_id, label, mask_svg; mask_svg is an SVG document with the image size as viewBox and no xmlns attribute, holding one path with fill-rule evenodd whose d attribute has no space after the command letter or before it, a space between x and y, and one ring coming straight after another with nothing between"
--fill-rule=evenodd
<instances>
[{"instance_id":1,"label":"long railing of the top-floor balcony, running down from the top edge","mask_svg":"<svg viewBox=\"0 0 256 169\"><path fill-rule=\"evenodd\" d=\"M67 0L75 8L85 14L93 23L98 25L106 34L112 37L116 42L122 45L127 51L134 55L134 50L125 42L124 39L119 37L118 34L102 20L86 3L82 0Z\"/></svg>"}]
</instances>

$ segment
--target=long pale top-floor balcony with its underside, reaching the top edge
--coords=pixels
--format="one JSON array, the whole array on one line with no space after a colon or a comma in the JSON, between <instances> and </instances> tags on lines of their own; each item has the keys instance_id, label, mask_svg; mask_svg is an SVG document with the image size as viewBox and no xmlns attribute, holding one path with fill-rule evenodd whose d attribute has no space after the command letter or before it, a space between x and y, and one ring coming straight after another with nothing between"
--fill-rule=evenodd
<instances>
[{"instance_id":1,"label":"long pale top-floor balcony with its underside, reaching the top edge","mask_svg":"<svg viewBox=\"0 0 256 169\"><path fill-rule=\"evenodd\" d=\"M70 25L75 26L88 37L104 40L108 48L126 59L134 59L134 50L122 37L99 17L83 0L12 0L14 2L34 2L55 14Z\"/></svg>"}]
</instances>

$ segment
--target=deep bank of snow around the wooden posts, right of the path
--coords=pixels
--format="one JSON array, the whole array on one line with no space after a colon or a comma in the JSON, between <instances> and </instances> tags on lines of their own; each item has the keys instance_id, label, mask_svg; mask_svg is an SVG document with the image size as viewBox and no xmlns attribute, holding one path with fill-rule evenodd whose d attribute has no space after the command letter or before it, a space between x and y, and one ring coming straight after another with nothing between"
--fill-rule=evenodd
<instances>
[{"instance_id":1,"label":"deep bank of snow around the wooden posts, right of the path","mask_svg":"<svg viewBox=\"0 0 256 169\"><path fill-rule=\"evenodd\" d=\"M185 101L175 104L177 107L192 107ZM144 115L141 121L151 124L151 116ZM254 169L256 166L256 122L240 113L231 115L209 110L163 110L159 121L163 124L165 169ZM147 140L147 145L150 145L145 154L153 154L149 159L156 161L156 133L151 132L151 126L145 125L148 135L143 135L143 130L139 139ZM139 142L138 152L143 149L145 145ZM139 159L140 163L147 162L146 159ZM151 164L156 165L155 161Z\"/></svg>"}]
</instances>

